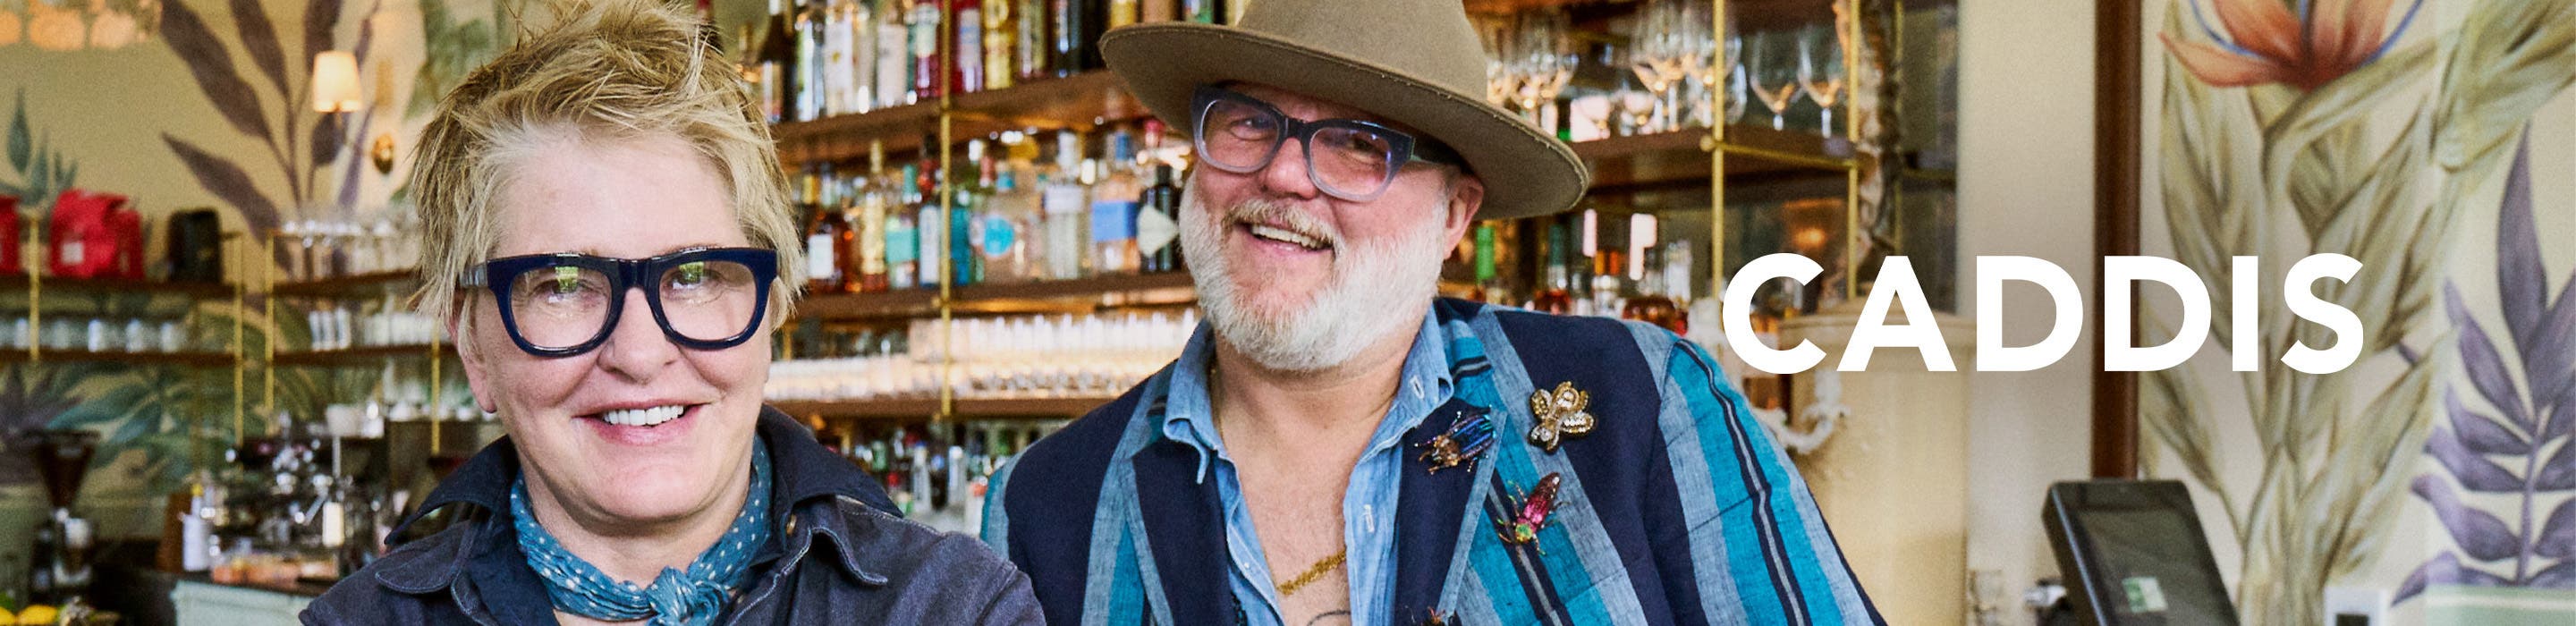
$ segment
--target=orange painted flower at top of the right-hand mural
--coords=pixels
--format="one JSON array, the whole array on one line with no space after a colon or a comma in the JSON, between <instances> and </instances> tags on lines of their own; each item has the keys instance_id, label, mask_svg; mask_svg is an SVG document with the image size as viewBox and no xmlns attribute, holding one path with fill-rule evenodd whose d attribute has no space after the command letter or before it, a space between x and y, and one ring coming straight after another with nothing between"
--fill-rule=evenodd
<instances>
[{"instance_id":1,"label":"orange painted flower at top of the right-hand mural","mask_svg":"<svg viewBox=\"0 0 2576 626\"><path fill-rule=\"evenodd\" d=\"M2210 28L2200 3L2192 21L2210 41L2156 33L2184 70L2215 88L2285 82L2316 90L2370 64L2414 23L2424 0L2414 0L2396 28L2388 28L2391 0L2208 0L2226 33Z\"/></svg>"}]
</instances>

